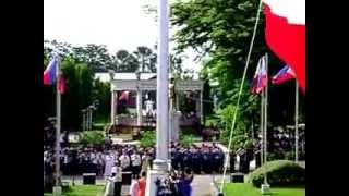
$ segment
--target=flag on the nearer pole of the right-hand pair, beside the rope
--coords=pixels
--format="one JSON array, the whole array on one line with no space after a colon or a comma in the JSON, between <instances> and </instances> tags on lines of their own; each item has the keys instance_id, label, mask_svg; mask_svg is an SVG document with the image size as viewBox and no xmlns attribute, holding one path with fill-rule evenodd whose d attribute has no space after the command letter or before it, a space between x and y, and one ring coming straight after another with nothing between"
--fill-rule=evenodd
<instances>
[{"instance_id":1,"label":"flag on the nearer pole of the right-hand pair, beside the rope","mask_svg":"<svg viewBox=\"0 0 349 196\"><path fill-rule=\"evenodd\" d=\"M252 93L261 94L262 90L266 87L267 83L268 75L266 72L266 59L265 56L263 56L258 61L258 65L253 77Z\"/></svg>"}]
</instances>

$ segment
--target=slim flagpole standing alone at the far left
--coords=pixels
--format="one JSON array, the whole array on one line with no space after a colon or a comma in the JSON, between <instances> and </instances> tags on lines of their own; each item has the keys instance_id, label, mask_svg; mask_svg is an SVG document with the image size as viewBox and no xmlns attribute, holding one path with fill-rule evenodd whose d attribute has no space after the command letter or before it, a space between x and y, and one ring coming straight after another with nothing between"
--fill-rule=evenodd
<instances>
[{"instance_id":1,"label":"slim flagpole standing alone at the far left","mask_svg":"<svg viewBox=\"0 0 349 196\"><path fill-rule=\"evenodd\" d=\"M59 91L60 59L56 70L56 186L60 186L61 94Z\"/></svg>"}]
</instances>

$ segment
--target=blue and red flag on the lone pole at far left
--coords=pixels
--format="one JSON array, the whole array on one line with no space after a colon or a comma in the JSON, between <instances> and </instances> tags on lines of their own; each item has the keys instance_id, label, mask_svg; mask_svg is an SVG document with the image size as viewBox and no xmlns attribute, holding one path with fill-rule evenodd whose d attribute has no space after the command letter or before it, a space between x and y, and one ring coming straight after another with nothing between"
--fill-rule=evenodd
<instances>
[{"instance_id":1,"label":"blue and red flag on the lone pole at far left","mask_svg":"<svg viewBox=\"0 0 349 196\"><path fill-rule=\"evenodd\" d=\"M57 89L60 94L65 91L65 79L59 71L59 61L53 58L44 71L44 85L53 85L58 81Z\"/></svg>"}]
</instances>

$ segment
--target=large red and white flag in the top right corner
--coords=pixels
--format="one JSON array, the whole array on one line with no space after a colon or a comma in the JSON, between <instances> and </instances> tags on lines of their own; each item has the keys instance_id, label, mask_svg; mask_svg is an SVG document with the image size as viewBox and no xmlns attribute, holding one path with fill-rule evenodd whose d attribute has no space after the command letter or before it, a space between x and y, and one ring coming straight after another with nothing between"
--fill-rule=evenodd
<instances>
[{"instance_id":1,"label":"large red and white flag in the top right corner","mask_svg":"<svg viewBox=\"0 0 349 196\"><path fill-rule=\"evenodd\" d=\"M305 0L263 0L265 38L305 93Z\"/></svg>"}]
</instances>

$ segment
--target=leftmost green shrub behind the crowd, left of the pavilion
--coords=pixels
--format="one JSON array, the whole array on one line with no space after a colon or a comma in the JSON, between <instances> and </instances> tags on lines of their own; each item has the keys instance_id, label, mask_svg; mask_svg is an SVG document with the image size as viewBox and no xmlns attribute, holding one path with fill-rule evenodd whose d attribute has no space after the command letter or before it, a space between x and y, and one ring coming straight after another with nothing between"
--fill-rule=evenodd
<instances>
[{"instance_id":1,"label":"leftmost green shrub behind the crowd, left of the pavilion","mask_svg":"<svg viewBox=\"0 0 349 196\"><path fill-rule=\"evenodd\" d=\"M101 146L105 143L104 132L87 131L80 135L80 143L84 146Z\"/></svg>"}]
</instances>

